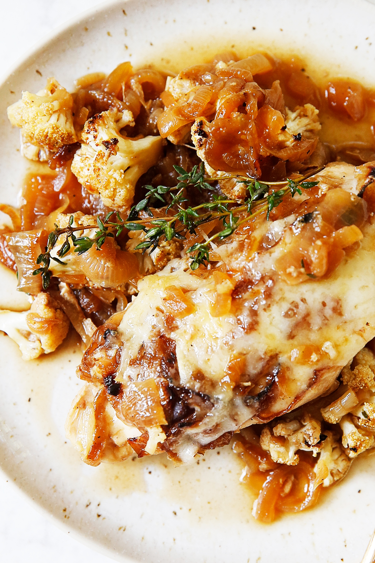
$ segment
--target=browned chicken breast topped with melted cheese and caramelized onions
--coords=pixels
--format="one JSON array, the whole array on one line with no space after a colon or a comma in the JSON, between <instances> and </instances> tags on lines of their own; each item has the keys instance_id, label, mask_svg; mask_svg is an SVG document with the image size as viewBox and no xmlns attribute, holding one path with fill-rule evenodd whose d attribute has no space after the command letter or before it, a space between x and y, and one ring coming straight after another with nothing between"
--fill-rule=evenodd
<instances>
[{"instance_id":1,"label":"browned chicken breast topped with melted cheese and caramelized onions","mask_svg":"<svg viewBox=\"0 0 375 563\"><path fill-rule=\"evenodd\" d=\"M107 401L138 455L186 463L327 391L375 337L375 224L356 195L373 164L328 166L294 207L215 248L216 267L175 259L143 278L79 367L101 397L97 425ZM69 420L73 441L95 443L97 432L83 440ZM100 463L105 445L93 448L83 458Z\"/></svg>"}]
</instances>

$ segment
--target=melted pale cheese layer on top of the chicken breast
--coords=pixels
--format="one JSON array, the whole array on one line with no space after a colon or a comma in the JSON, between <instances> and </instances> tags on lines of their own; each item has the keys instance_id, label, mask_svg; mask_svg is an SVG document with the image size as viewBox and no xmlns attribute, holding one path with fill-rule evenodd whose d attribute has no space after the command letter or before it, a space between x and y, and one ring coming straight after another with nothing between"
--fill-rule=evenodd
<instances>
[{"instance_id":1,"label":"melted pale cheese layer on top of the chicken breast","mask_svg":"<svg viewBox=\"0 0 375 563\"><path fill-rule=\"evenodd\" d=\"M245 371L251 381L261 372L265 361L274 357L287 375L272 411L276 414L292 404L312 399L322 392L319 373L328 373L324 382L324 387L328 387L340 369L375 336L374 242L375 226L367 225L358 251L346 256L330 278L291 286L274 276L267 282L269 296L255 296L255 305L254 300L250 303L250 292L248 303L243 306L255 310L257 325L249 331L238 324L233 312L219 317L211 314L207 297L210 277L198 278L184 269L165 269L147 276L139 283L138 297L119 327L125 342L119 375L123 381L136 378L135 368L129 367L130 360L137 356L143 342L162 333L175 341L183 386L199 391L202 386L196 374L201 374L211 382L214 397L219 401L225 397L228 403L231 397L220 382L233 358L245 359ZM271 249L255 257L247 263L247 271L255 278L272 274L277 252ZM195 312L176 319L174 330L166 328L163 312L165 290L170 285L183 288L195 305ZM261 288L260 283L255 285L254 293L259 293L258 285ZM306 347L311 352L299 361Z\"/></svg>"}]
</instances>

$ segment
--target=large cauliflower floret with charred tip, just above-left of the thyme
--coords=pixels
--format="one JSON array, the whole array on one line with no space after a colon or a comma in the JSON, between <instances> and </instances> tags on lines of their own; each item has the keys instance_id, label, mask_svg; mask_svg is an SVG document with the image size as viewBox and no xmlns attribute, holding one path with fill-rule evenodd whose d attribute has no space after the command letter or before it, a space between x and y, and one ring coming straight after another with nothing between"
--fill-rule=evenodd
<instances>
[{"instance_id":1,"label":"large cauliflower floret with charred tip, just above-left of the thyme","mask_svg":"<svg viewBox=\"0 0 375 563\"><path fill-rule=\"evenodd\" d=\"M161 155L161 137L133 140L121 135L120 129L133 123L133 114L128 110L94 115L85 123L83 144L71 164L79 182L98 193L103 203L114 209L130 207L138 178Z\"/></svg>"}]
</instances>

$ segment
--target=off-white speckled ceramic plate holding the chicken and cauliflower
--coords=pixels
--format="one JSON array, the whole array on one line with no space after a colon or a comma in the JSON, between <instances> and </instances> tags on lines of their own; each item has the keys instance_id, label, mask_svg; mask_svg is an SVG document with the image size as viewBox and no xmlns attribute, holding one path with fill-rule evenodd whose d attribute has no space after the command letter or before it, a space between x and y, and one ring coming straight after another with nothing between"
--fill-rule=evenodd
<instances>
[{"instance_id":1,"label":"off-white speckled ceramic plate holding the chicken and cauliflower","mask_svg":"<svg viewBox=\"0 0 375 563\"><path fill-rule=\"evenodd\" d=\"M16 204L24 173L18 132L6 108L56 76L65 87L119 62L178 70L216 51L297 52L317 80L329 74L375 86L375 7L365 0L130 0L81 17L31 53L0 90L0 200ZM42 73L43 78L35 71ZM0 271L0 307L17 303L15 277ZM375 463L349 476L313 510L270 526L251 517L252 498L229 448L174 468L164 455L93 468L64 435L80 352L25 363L0 337L0 464L40 508L78 539L119 561L156 563L358 562L375 526Z\"/></svg>"}]
</instances>

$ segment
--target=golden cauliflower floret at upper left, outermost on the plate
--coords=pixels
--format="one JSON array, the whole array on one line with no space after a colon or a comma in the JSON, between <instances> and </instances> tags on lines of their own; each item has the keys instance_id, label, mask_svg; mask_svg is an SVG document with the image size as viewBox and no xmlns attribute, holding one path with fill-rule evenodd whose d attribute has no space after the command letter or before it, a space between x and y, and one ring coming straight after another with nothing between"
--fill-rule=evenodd
<instances>
[{"instance_id":1,"label":"golden cauliflower floret at upper left, outermost on the plate","mask_svg":"<svg viewBox=\"0 0 375 563\"><path fill-rule=\"evenodd\" d=\"M42 154L76 142L72 108L73 97L55 78L48 78L46 88L36 94L22 92L7 110L11 124L21 129L22 154L43 160Z\"/></svg>"}]
</instances>

